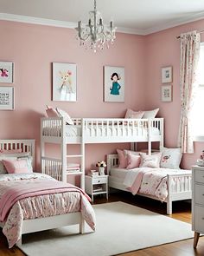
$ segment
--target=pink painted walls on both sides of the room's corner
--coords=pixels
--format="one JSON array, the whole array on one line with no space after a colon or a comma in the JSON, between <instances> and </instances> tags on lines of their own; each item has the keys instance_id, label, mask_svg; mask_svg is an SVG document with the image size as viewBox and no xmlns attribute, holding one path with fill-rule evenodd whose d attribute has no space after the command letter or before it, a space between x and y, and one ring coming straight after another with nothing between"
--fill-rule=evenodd
<instances>
[{"instance_id":1,"label":"pink painted walls on both sides of the room's corner","mask_svg":"<svg viewBox=\"0 0 204 256\"><path fill-rule=\"evenodd\" d=\"M74 117L123 117L126 108L159 107L159 115L165 118L165 146L176 147L180 117L180 42L175 36L203 28L204 20L201 20L150 36L118 33L110 49L94 54L79 46L74 30L0 21L0 60L15 62L16 90L15 111L0 111L0 137L35 138L39 167L40 118L46 104L65 109ZM77 102L51 101L52 62L77 64ZM124 66L124 103L103 102L105 65ZM173 66L173 102L163 103L161 67L167 65ZM194 146L195 153L184 155L182 167L194 164L204 145L196 142ZM129 145L87 145L86 168L115 148L124 147Z\"/></svg>"}]
</instances>

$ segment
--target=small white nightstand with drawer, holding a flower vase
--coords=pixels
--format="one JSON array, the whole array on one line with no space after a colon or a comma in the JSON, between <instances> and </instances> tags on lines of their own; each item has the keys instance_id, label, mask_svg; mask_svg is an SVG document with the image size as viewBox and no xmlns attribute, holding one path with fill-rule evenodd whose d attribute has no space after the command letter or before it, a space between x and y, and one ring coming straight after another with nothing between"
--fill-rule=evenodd
<instances>
[{"instance_id":1,"label":"small white nightstand with drawer, holding a flower vase","mask_svg":"<svg viewBox=\"0 0 204 256\"><path fill-rule=\"evenodd\" d=\"M108 200L108 175L99 176L85 176L85 191L87 194L93 196L95 194L106 194Z\"/></svg>"}]
</instances>

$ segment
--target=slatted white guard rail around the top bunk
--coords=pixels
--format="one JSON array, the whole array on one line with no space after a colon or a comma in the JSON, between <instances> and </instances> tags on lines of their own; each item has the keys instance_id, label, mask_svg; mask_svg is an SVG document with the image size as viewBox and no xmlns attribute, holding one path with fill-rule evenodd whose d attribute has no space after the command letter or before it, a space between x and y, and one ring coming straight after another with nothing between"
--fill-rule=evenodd
<instances>
[{"instance_id":1,"label":"slatted white guard rail around the top bunk","mask_svg":"<svg viewBox=\"0 0 204 256\"><path fill-rule=\"evenodd\" d=\"M66 136L67 128L80 128L80 135ZM67 126L63 118L41 118L42 140L59 143L64 136L67 143L163 141L163 118L73 118Z\"/></svg>"}]
</instances>

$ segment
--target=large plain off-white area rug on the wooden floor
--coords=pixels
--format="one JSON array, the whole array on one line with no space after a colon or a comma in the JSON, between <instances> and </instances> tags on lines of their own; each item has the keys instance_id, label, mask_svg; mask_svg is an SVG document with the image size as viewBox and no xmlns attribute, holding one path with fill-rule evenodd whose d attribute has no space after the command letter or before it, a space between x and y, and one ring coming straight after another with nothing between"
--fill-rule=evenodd
<instances>
[{"instance_id":1,"label":"large plain off-white area rug on the wooden floor","mask_svg":"<svg viewBox=\"0 0 204 256\"><path fill-rule=\"evenodd\" d=\"M110 256L193 237L191 225L123 202L93 206L97 230L67 226L22 236L29 256Z\"/></svg>"}]
</instances>

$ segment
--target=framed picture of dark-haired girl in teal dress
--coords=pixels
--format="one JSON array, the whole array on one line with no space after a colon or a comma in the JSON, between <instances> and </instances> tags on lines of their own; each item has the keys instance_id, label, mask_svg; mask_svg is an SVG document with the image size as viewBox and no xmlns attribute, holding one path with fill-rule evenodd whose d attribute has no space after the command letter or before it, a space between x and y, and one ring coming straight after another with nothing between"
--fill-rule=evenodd
<instances>
[{"instance_id":1,"label":"framed picture of dark-haired girl in teal dress","mask_svg":"<svg viewBox=\"0 0 204 256\"><path fill-rule=\"evenodd\" d=\"M104 67L104 101L124 102L124 68Z\"/></svg>"}]
</instances>

